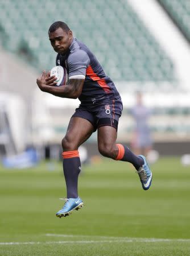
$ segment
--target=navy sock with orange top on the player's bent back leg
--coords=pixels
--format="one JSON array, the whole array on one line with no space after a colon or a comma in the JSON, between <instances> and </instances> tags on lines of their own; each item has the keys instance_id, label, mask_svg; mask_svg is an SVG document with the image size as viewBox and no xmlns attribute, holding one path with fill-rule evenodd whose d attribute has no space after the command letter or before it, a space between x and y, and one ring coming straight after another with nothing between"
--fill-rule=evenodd
<instances>
[{"instance_id":1,"label":"navy sock with orange top on the player's bent back leg","mask_svg":"<svg viewBox=\"0 0 190 256\"><path fill-rule=\"evenodd\" d=\"M144 164L144 160L135 154L127 146L116 144L118 147L118 156L115 160L121 160L133 164L136 170Z\"/></svg>"}]
</instances>

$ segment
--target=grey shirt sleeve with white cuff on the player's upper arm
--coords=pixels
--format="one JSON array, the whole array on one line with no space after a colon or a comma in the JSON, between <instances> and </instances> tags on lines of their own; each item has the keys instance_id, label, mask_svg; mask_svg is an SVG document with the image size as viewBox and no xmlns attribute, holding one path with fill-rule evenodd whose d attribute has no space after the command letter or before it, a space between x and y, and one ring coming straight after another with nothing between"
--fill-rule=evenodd
<instances>
[{"instance_id":1,"label":"grey shirt sleeve with white cuff on the player's upper arm","mask_svg":"<svg viewBox=\"0 0 190 256\"><path fill-rule=\"evenodd\" d=\"M86 68L90 64L88 54L79 49L79 51L71 53L67 60L69 69L69 79L85 79Z\"/></svg>"}]
</instances>

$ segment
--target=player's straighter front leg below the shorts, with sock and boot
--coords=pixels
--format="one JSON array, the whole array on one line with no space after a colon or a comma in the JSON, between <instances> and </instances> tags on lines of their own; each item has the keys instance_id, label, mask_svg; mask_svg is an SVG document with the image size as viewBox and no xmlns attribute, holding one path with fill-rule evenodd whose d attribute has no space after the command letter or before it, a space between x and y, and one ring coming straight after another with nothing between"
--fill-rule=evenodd
<instances>
[{"instance_id":1,"label":"player's straighter front leg below the shorts, with sock and boot","mask_svg":"<svg viewBox=\"0 0 190 256\"><path fill-rule=\"evenodd\" d=\"M78 176L81 170L79 146L93 133L94 127L88 120L80 117L72 117L65 137L62 140L63 170L67 186L67 201L63 209L56 213L57 217L68 216L73 209L83 206L78 196Z\"/></svg>"}]
</instances>

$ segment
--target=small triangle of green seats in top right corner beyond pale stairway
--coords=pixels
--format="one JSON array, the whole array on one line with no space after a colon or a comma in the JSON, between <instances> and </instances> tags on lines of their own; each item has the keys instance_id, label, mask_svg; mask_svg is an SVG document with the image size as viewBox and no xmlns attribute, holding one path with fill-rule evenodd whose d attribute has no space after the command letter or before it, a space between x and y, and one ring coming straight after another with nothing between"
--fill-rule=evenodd
<instances>
[{"instance_id":1,"label":"small triangle of green seats in top right corner beyond pale stairway","mask_svg":"<svg viewBox=\"0 0 190 256\"><path fill-rule=\"evenodd\" d=\"M190 42L190 1L189 0L158 0L168 15Z\"/></svg>"}]
</instances>

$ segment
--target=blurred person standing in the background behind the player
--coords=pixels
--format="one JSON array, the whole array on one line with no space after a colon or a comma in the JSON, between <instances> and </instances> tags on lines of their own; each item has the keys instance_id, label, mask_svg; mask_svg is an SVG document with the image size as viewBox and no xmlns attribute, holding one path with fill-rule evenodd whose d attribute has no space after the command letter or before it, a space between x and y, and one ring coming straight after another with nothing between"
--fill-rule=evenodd
<instances>
[{"instance_id":1,"label":"blurred person standing in the background behind the player","mask_svg":"<svg viewBox=\"0 0 190 256\"><path fill-rule=\"evenodd\" d=\"M148 156L152 150L151 130L148 120L151 116L151 109L143 104L141 92L136 93L136 104L130 110L135 120L135 131L131 140L131 147L136 155Z\"/></svg>"}]
</instances>

